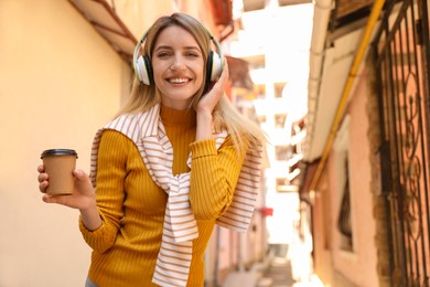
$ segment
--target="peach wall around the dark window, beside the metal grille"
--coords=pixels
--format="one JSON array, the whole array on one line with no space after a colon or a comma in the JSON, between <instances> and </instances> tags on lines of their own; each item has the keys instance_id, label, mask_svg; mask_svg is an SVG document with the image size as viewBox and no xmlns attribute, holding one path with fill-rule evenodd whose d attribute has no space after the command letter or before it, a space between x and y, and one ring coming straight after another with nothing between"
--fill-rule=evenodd
<instances>
[{"instance_id":1,"label":"peach wall around the dark window, beside the metal grille","mask_svg":"<svg viewBox=\"0 0 430 287\"><path fill-rule=\"evenodd\" d=\"M336 172L336 141L316 188L313 209L315 270L324 284L342 287L378 286L375 245L374 194L372 193L372 159L368 139L369 120L366 105L367 74L359 73L351 95L347 115L347 152L350 160L351 214L353 251L342 249L337 219L341 204L341 174ZM342 128L341 128L342 129ZM337 139L336 139L337 140Z\"/></svg>"}]
</instances>

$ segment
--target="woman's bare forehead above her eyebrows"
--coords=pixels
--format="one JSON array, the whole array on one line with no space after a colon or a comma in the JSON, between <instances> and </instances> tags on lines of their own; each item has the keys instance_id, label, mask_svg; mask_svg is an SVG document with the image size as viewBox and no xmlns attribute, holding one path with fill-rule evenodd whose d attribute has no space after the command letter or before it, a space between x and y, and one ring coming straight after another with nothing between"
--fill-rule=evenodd
<instances>
[{"instance_id":1,"label":"woman's bare forehead above her eyebrows","mask_svg":"<svg viewBox=\"0 0 430 287\"><path fill-rule=\"evenodd\" d=\"M170 25L164 28L155 40L154 46L195 46L200 47L194 36L184 28Z\"/></svg>"}]
</instances>

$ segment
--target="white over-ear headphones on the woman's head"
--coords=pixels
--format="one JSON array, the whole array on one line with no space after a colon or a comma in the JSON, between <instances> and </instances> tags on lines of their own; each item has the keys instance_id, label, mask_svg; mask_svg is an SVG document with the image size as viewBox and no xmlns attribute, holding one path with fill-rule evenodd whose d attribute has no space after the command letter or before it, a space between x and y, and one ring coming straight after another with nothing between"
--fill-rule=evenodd
<instances>
[{"instance_id":1,"label":"white over-ear headphones on the woman's head","mask_svg":"<svg viewBox=\"0 0 430 287\"><path fill-rule=\"evenodd\" d=\"M215 44L217 53L214 51L211 51L207 56L207 63L206 63L206 87L209 85L212 81L216 81L217 77L223 72L223 50L221 49L221 45L218 41L211 34L211 32L205 29L207 34L211 38L211 41ZM151 60L148 55L139 55L140 47L143 45L147 35L150 30L148 30L142 38L140 39L139 43L135 47L133 53L133 65L135 65L135 73L137 77L146 85L152 85L153 84L153 71L151 65Z\"/></svg>"}]
</instances>

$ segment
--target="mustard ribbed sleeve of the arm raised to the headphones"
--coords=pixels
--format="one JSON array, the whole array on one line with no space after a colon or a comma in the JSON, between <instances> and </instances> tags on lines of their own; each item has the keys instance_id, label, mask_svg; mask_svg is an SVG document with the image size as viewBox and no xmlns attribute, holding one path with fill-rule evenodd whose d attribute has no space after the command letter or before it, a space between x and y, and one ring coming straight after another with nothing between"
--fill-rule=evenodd
<instances>
[{"instance_id":1,"label":"mustard ribbed sleeve of the arm raised to the headphones","mask_svg":"<svg viewBox=\"0 0 430 287\"><path fill-rule=\"evenodd\" d=\"M190 202L196 220L219 217L233 201L246 150L240 155L229 137L217 150L214 139L192 142Z\"/></svg>"}]
</instances>

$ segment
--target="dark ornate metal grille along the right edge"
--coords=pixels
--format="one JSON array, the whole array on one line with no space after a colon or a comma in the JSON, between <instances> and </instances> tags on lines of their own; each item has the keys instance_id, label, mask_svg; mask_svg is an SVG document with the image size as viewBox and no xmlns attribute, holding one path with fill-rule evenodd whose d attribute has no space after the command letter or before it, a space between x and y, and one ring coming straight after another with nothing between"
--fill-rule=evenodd
<instances>
[{"instance_id":1,"label":"dark ornate metal grille along the right edge","mask_svg":"<svg viewBox=\"0 0 430 287\"><path fill-rule=\"evenodd\" d=\"M391 286L430 286L427 0L387 2L374 43Z\"/></svg>"}]
</instances>

